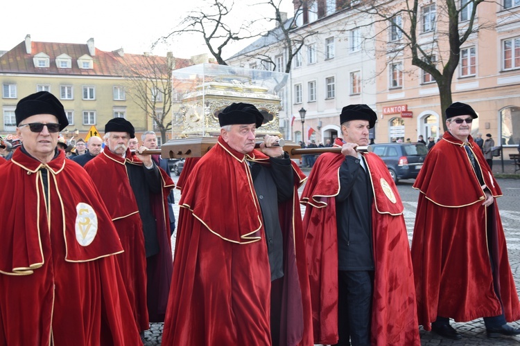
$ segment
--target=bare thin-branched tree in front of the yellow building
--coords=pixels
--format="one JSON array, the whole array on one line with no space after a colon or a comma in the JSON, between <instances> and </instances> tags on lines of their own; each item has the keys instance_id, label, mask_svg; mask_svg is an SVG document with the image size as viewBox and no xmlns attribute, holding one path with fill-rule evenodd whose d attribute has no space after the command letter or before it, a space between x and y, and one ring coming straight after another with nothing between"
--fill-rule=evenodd
<instances>
[{"instance_id":1,"label":"bare thin-branched tree in front of the yellow building","mask_svg":"<svg viewBox=\"0 0 520 346\"><path fill-rule=\"evenodd\" d=\"M161 132L162 143L172 127L172 98L174 86L172 71L175 58L172 53L167 57L156 55L131 55L123 61L121 73L127 81L126 93L141 108L146 116L153 119L155 127Z\"/></svg>"}]
</instances>

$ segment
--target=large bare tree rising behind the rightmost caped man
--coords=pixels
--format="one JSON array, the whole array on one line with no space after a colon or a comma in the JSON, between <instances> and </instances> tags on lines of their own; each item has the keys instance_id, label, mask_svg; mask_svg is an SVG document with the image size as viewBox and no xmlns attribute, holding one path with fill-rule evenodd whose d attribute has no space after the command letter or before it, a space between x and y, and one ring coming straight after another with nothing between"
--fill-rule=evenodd
<instances>
[{"instance_id":1,"label":"large bare tree rising behind the rightmost caped man","mask_svg":"<svg viewBox=\"0 0 520 346\"><path fill-rule=\"evenodd\" d=\"M422 3L419 0L358 1L357 9L374 16L374 24L381 29L383 54L389 60L397 56L410 57L413 66L429 73L437 83L442 110L442 124L446 131L444 111L452 103L451 82L460 61L461 46L478 30L495 24L479 18L476 10L485 0L441 0ZM420 6L435 6L433 12L422 13ZM425 17L425 16L428 17ZM433 17L431 17L433 16ZM461 16L463 21L461 21ZM419 37L431 32L429 39ZM383 34L384 32L384 34ZM387 41L387 33L396 35L395 42ZM388 42L388 43L387 43Z\"/></svg>"}]
</instances>

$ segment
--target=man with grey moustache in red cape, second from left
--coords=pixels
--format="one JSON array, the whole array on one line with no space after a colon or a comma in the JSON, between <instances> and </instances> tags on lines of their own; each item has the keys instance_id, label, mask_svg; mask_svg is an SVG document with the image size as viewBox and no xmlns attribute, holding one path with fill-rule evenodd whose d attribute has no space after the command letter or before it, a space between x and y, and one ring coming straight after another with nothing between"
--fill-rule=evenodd
<instances>
[{"instance_id":1,"label":"man with grey moustache in red cape, second from left","mask_svg":"<svg viewBox=\"0 0 520 346\"><path fill-rule=\"evenodd\" d=\"M168 205L171 178L150 155L132 155L132 124L113 118L105 125L105 150L85 165L121 238L119 266L142 332L163 322L173 270ZM140 150L146 147L139 148ZM142 160L142 161L141 161Z\"/></svg>"}]
</instances>

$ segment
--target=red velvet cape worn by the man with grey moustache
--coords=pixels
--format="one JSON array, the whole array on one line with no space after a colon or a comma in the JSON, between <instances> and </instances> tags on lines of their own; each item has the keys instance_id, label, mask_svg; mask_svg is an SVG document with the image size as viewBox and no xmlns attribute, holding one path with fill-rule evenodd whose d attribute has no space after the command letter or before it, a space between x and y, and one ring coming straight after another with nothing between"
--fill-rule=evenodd
<instances>
[{"instance_id":1,"label":"red velvet cape worn by the man with grey moustache","mask_svg":"<svg viewBox=\"0 0 520 346\"><path fill-rule=\"evenodd\" d=\"M150 260L147 263L141 218L132 186L127 178L125 163L143 164L137 156L130 153L130 150L127 150L123 158L107 149L89 161L85 170L92 176L101 192L126 250L118 256L119 265L125 282L128 282L128 295L133 298L135 318L140 329L145 330L148 329L148 320L164 321L168 304L173 259L166 199L174 183L170 176L159 168L162 176L162 194L152 196L150 203L157 220L160 251L153 256L153 263Z\"/></svg>"}]
</instances>

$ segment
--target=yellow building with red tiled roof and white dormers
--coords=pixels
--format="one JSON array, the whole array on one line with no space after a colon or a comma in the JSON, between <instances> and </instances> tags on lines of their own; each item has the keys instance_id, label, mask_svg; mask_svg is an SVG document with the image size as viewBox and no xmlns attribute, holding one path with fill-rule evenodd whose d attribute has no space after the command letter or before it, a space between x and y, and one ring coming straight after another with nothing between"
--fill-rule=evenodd
<instances>
[{"instance_id":1,"label":"yellow building with red tiled roof and white dormers","mask_svg":"<svg viewBox=\"0 0 520 346\"><path fill-rule=\"evenodd\" d=\"M172 102L175 95L165 95L162 88L169 79L168 71L166 76L164 71L162 75L150 72L150 62L158 66L173 64L172 69L193 64L171 55L125 54L122 48L100 51L94 46L94 39L87 44L62 44L32 42L27 35L23 42L0 56L0 133L15 132L17 102L37 91L49 91L62 102L69 118L69 126L62 134L71 143L85 138L92 126L103 134L107 121L116 117L132 122L136 136L148 130L158 131L151 115L160 114L163 109L171 112L166 122L172 118L175 125L175 114L171 107L165 107L165 102Z\"/></svg>"}]
</instances>

